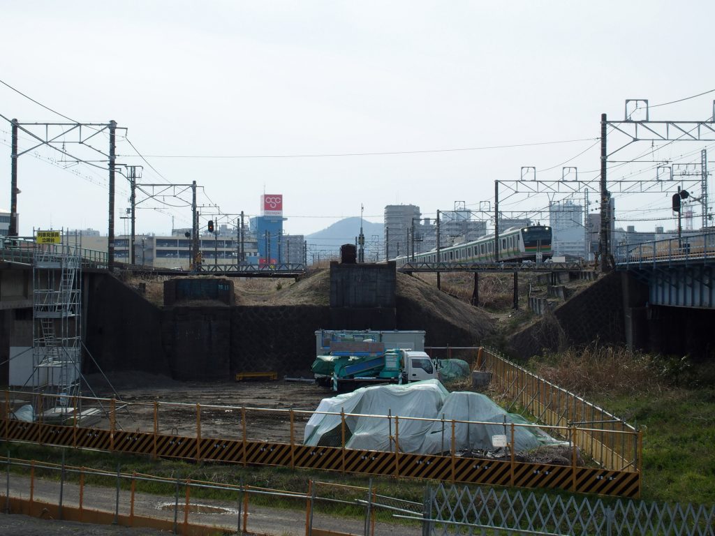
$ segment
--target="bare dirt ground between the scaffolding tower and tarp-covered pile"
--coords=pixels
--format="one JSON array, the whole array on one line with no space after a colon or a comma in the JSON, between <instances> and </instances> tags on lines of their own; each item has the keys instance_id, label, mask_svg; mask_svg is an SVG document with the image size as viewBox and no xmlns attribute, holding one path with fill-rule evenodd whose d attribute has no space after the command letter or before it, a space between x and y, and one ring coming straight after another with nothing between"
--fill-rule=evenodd
<instances>
[{"instance_id":1,"label":"bare dirt ground between the scaffolding tower and tarp-covered pile","mask_svg":"<svg viewBox=\"0 0 715 536\"><path fill-rule=\"evenodd\" d=\"M117 429L154 431L154 402L157 405L158 432L192 437L197 432L197 413L201 436L240 439L243 427L249 440L290 442L290 412L293 437L302 442L303 429L320 400L332 392L312 382L176 382L169 377L124 372L111 374L110 385L99 375L87 377L89 387L83 393L116 398L126 404L116 405ZM87 401L88 405L93 405ZM198 405L198 406L197 406ZM109 410L109 403L103 404ZM242 410L242 408L247 408ZM256 410L254 408L260 408ZM245 411L245 425L242 415ZM108 413L105 411L104 413ZM95 425L109 429L107 416Z\"/></svg>"}]
</instances>

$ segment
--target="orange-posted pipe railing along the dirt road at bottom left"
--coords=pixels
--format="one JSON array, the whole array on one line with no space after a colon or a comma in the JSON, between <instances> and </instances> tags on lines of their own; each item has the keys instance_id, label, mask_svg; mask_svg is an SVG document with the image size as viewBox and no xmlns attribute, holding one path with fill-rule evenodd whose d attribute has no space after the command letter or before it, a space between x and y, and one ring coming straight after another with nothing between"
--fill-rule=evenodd
<instances>
[{"instance_id":1,"label":"orange-posted pipe railing along the dirt road at bottom left","mask_svg":"<svg viewBox=\"0 0 715 536\"><path fill-rule=\"evenodd\" d=\"M336 528L366 536L422 532L417 524L395 526L392 514L421 515L423 502L378 495L372 482L364 487L308 480L307 490L300 492L122 472L120 466L117 471L77 467L66 465L64 453L61 464L9 457L0 462L6 480L0 508L6 514L150 527L182 535L299 530L310 536L325 529L339 534ZM282 505L276 505L278 501ZM336 508L337 519L331 515Z\"/></svg>"}]
</instances>

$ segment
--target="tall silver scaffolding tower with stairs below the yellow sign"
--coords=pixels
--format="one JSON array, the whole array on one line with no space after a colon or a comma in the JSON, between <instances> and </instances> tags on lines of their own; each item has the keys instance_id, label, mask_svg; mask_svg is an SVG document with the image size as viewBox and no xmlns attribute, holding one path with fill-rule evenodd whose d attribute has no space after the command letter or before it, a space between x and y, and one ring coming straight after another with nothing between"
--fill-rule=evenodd
<instances>
[{"instance_id":1,"label":"tall silver scaffolding tower with stairs below the yellow sign","mask_svg":"<svg viewBox=\"0 0 715 536\"><path fill-rule=\"evenodd\" d=\"M36 249L32 270L32 387L49 397L43 410L71 412L82 364L82 264L79 248L48 244ZM54 406L54 410L53 410Z\"/></svg>"}]
</instances>

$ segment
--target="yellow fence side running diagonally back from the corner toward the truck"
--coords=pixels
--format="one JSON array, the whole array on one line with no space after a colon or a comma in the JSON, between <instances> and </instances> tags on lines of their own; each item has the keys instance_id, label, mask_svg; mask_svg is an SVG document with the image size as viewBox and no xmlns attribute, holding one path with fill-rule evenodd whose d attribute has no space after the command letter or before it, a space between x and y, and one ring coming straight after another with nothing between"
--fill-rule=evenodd
<instances>
[{"instance_id":1,"label":"yellow fence side running diagonally back from the corner toward the truck","mask_svg":"<svg viewBox=\"0 0 715 536\"><path fill-rule=\"evenodd\" d=\"M485 348L477 369L491 372L493 387L505 392L508 410L526 410L537 422L573 429L573 442L602 467L641 470L641 432L583 397L567 391Z\"/></svg>"}]
</instances>

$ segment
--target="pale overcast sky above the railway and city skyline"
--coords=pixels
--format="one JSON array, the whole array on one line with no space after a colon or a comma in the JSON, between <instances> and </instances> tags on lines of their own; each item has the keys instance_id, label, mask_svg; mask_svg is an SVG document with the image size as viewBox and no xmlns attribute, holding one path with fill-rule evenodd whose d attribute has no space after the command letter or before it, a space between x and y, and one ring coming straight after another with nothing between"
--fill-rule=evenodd
<instances>
[{"instance_id":1,"label":"pale overcast sky above the railway and city skyline","mask_svg":"<svg viewBox=\"0 0 715 536\"><path fill-rule=\"evenodd\" d=\"M597 178L601 114L625 119L626 99L649 99L651 121L713 114L711 0L0 0L0 10L0 114L117 121L119 169L142 166L139 184L195 180L202 226L260 214L263 193L283 195L291 234L361 207L373 222L388 204L416 204L425 217L455 202L491 211L495 180L518 180L523 167L540 180L561 179L564 166ZM44 136L44 126L27 128ZM46 146L19 157L20 234L106 234L107 158L71 143L76 135L59 140L94 162ZM609 151L626 141L613 132ZM106 153L107 132L88 143ZM33 145L21 132L20 150ZM0 118L3 209L9 146ZM715 143L637 142L613 154L608 177L656 179L659 165L684 172L690 163L699 172L701 149L715 154ZM137 232L189 227L182 190L139 192ZM616 194L617 225L674 227L671 194ZM501 190L500 208L517 216L566 197ZM589 202L595 212L596 191ZM117 174L117 234L128 230L127 207L128 182ZM693 207L697 228L701 205Z\"/></svg>"}]
</instances>

